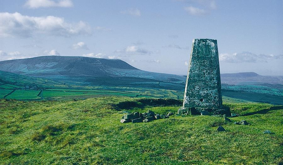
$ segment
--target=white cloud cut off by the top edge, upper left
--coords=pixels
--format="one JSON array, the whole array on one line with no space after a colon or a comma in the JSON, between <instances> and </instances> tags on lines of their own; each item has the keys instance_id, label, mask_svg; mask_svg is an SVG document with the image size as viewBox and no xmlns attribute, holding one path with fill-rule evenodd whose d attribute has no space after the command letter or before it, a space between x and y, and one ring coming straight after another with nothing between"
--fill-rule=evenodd
<instances>
[{"instance_id":1,"label":"white cloud cut off by the top edge, upper left","mask_svg":"<svg viewBox=\"0 0 283 165\"><path fill-rule=\"evenodd\" d=\"M58 0L55 2L53 0L28 0L25 3L28 8L48 8L48 7L73 7L71 0Z\"/></svg>"}]
</instances>

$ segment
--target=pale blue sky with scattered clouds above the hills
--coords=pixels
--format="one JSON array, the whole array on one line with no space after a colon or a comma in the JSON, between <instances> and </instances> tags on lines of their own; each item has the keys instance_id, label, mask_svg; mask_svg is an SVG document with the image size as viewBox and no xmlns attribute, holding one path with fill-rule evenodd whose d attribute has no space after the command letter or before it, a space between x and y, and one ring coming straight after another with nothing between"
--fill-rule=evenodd
<instances>
[{"instance_id":1,"label":"pale blue sky with scattered clouds above the hills","mask_svg":"<svg viewBox=\"0 0 283 165\"><path fill-rule=\"evenodd\" d=\"M282 2L0 0L0 61L86 56L186 75L192 40L210 38L220 73L283 76Z\"/></svg>"}]
</instances>

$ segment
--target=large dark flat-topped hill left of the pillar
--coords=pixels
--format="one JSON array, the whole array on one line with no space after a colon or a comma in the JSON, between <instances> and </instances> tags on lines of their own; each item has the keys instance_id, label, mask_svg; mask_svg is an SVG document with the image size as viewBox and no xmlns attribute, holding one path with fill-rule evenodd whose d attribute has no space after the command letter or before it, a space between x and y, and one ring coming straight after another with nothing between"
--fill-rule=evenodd
<instances>
[{"instance_id":1,"label":"large dark flat-topped hill left of the pillar","mask_svg":"<svg viewBox=\"0 0 283 165\"><path fill-rule=\"evenodd\" d=\"M186 77L139 70L122 60L80 56L40 56L0 61L0 70L53 80L86 81L97 77L136 77L158 81L186 81ZM80 79L82 78L82 79Z\"/></svg>"}]
</instances>

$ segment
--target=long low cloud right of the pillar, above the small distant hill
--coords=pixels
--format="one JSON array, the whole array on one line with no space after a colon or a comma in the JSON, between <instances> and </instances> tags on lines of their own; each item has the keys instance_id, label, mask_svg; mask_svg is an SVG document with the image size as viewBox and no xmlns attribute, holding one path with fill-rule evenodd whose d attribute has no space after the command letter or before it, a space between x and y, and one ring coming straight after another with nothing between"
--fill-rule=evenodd
<instances>
[{"instance_id":1,"label":"long low cloud right of the pillar, above the small distant hill","mask_svg":"<svg viewBox=\"0 0 283 165\"><path fill-rule=\"evenodd\" d=\"M282 59L283 55L265 55L265 54L254 54L248 51L241 53L221 53L219 55L219 61L230 62L230 63L241 63L241 62L267 62L272 59Z\"/></svg>"}]
</instances>

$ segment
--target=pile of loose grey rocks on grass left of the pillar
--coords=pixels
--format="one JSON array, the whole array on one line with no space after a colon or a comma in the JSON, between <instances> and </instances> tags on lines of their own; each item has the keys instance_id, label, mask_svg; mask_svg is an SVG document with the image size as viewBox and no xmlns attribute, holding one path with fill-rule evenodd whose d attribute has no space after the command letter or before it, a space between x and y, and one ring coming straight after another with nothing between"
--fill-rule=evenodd
<instances>
[{"instance_id":1,"label":"pile of loose grey rocks on grass left of the pillar","mask_svg":"<svg viewBox=\"0 0 283 165\"><path fill-rule=\"evenodd\" d=\"M134 112L134 113L128 113L124 114L122 116L122 119L120 120L121 123L141 123L141 122L149 122L153 120L158 120L158 119L166 119L169 118L169 116L173 115L172 112L169 112L166 116L163 114L155 114L153 111L148 110L146 113L139 113L139 112Z\"/></svg>"}]
</instances>

